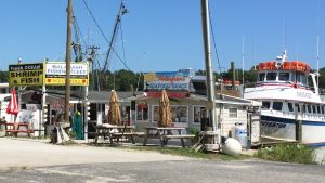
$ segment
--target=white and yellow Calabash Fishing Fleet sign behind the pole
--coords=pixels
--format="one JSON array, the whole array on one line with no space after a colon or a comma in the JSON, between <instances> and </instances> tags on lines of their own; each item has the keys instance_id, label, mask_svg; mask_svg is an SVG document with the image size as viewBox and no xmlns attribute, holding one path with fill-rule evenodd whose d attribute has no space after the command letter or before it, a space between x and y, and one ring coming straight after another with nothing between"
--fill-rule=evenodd
<instances>
[{"instance_id":1,"label":"white and yellow Calabash Fishing Fleet sign behind the pole","mask_svg":"<svg viewBox=\"0 0 325 183\"><path fill-rule=\"evenodd\" d=\"M72 63L70 86L89 86L88 63ZM44 83L47 86L65 86L66 64L51 62L44 64Z\"/></svg>"}]
</instances>

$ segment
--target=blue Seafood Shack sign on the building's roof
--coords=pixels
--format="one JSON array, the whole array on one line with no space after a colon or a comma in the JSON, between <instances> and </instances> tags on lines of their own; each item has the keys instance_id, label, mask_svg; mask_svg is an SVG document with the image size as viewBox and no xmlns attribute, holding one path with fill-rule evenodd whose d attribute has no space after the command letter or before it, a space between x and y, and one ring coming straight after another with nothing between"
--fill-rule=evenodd
<instances>
[{"instance_id":1,"label":"blue Seafood Shack sign on the building's roof","mask_svg":"<svg viewBox=\"0 0 325 183\"><path fill-rule=\"evenodd\" d=\"M190 90L190 71L144 74L144 88L151 90Z\"/></svg>"}]
</instances>

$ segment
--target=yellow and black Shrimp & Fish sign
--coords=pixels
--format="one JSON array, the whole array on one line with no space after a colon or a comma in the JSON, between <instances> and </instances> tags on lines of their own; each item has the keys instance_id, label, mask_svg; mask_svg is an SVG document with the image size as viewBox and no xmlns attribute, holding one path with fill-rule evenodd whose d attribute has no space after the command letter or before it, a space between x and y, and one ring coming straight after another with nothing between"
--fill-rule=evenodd
<instances>
[{"instance_id":1,"label":"yellow and black Shrimp & Fish sign","mask_svg":"<svg viewBox=\"0 0 325 183\"><path fill-rule=\"evenodd\" d=\"M9 86L42 86L43 64L9 65Z\"/></svg>"}]
</instances>

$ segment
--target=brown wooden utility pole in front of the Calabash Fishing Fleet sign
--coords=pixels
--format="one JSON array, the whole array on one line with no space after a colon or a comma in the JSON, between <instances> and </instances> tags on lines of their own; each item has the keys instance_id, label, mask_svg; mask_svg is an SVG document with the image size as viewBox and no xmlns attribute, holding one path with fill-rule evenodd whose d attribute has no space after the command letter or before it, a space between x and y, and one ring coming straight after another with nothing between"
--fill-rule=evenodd
<instances>
[{"instance_id":1,"label":"brown wooden utility pole in front of the Calabash Fishing Fleet sign","mask_svg":"<svg viewBox=\"0 0 325 183\"><path fill-rule=\"evenodd\" d=\"M73 0L68 0L67 8L67 35L66 35L66 78L65 78L65 105L64 105L64 121L69 122L70 108L70 65L72 65L72 26L73 26Z\"/></svg>"}]
</instances>

